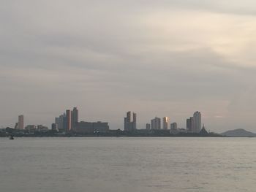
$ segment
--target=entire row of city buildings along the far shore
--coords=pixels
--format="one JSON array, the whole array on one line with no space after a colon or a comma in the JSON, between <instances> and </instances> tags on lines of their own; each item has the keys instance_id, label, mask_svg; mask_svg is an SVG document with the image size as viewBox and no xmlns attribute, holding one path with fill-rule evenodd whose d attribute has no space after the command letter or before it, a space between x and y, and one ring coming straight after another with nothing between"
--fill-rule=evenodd
<instances>
[{"instance_id":1,"label":"entire row of city buildings along the far shore","mask_svg":"<svg viewBox=\"0 0 256 192\"><path fill-rule=\"evenodd\" d=\"M161 123L162 120L162 123ZM170 133L175 134L179 132L186 133L200 133L205 128L201 123L201 113L194 112L192 117L187 118L187 128L178 128L176 122L170 123L170 118L157 118L151 120L151 123L146 123L146 130L170 130ZM169 129L170 124L170 129ZM48 127L42 125L28 125L24 127L24 115L18 116L18 123L15 124L15 129L26 130L29 132L33 131L48 131ZM52 123L51 129L59 133L75 133L75 134L91 134L91 133L106 133L110 131L107 122L87 122L79 121L78 119L78 108L73 107L72 110L66 110L63 114L55 118L55 122ZM135 132L137 130L137 115L135 112L127 112L124 118L124 131ZM166 131L164 131L166 132Z\"/></svg>"}]
</instances>

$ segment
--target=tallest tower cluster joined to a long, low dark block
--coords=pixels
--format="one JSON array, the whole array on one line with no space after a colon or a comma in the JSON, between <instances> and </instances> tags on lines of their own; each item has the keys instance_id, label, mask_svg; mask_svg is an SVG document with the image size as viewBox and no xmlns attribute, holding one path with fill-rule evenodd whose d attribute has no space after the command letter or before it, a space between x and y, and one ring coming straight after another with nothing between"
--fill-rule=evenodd
<instances>
[{"instance_id":1,"label":"tallest tower cluster joined to a long, low dark block","mask_svg":"<svg viewBox=\"0 0 256 192\"><path fill-rule=\"evenodd\" d=\"M106 122L86 122L78 120L78 108L66 110L59 118L55 118L52 129L60 132L73 132L78 134L90 134L94 132L107 132L109 130Z\"/></svg>"}]
</instances>

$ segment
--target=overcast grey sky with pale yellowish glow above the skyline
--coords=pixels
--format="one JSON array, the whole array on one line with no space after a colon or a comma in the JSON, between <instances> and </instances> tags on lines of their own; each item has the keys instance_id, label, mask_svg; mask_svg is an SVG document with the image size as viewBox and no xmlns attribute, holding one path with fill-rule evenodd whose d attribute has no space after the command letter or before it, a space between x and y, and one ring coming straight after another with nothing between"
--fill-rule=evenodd
<instances>
[{"instance_id":1,"label":"overcast grey sky with pale yellowish glow above the skyline","mask_svg":"<svg viewBox=\"0 0 256 192\"><path fill-rule=\"evenodd\" d=\"M79 119L255 131L256 1L0 0L0 126Z\"/></svg>"}]
</instances>

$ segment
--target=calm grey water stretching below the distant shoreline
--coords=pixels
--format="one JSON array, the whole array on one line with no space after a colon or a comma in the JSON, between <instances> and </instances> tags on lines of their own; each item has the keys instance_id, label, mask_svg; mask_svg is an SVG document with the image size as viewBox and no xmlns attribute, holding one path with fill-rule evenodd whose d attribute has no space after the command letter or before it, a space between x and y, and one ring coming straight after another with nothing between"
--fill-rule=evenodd
<instances>
[{"instance_id":1,"label":"calm grey water stretching below the distant shoreline","mask_svg":"<svg viewBox=\"0 0 256 192\"><path fill-rule=\"evenodd\" d=\"M0 191L256 191L256 138L0 138Z\"/></svg>"}]
</instances>

